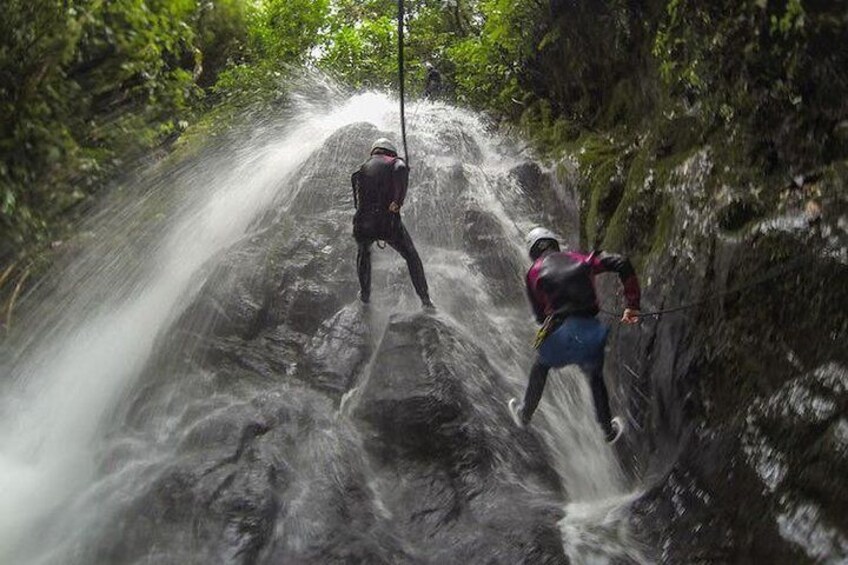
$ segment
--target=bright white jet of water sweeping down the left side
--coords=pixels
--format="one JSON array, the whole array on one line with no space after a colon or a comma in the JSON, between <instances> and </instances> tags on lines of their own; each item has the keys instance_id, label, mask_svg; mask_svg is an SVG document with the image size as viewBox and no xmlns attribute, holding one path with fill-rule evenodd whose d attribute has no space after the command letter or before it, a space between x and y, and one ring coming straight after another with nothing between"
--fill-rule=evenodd
<instances>
[{"instance_id":1,"label":"bright white jet of water sweeping down the left side","mask_svg":"<svg viewBox=\"0 0 848 565\"><path fill-rule=\"evenodd\" d=\"M202 285L208 263L244 237L257 217L285 206L299 188L303 161L339 127L368 121L379 127L393 103L367 94L335 110L304 107L283 139L245 147L217 175L205 202L178 218L148 259L149 281L121 300L114 279L82 281L104 297L98 312L80 316L61 335L38 340L14 369L0 413L0 562L25 558L38 524L93 477L93 450L104 416L133 385L157 337ZM210 165L205 163L205 165ZM66 312L56 312L62 319ZM24 552L24 553L22 553Z\"/></svg>"}]
</instances>

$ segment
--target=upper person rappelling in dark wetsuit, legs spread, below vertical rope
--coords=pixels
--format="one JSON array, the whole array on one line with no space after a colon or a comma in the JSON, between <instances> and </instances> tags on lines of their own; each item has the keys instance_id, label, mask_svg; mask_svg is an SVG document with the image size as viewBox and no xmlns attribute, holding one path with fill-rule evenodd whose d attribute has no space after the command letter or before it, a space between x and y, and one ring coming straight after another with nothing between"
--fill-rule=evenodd
<instances>
[{"instance_id":1,"label":"upper person rappelling in dark wetsuit, legs spread, below vertical rope","mask_svg":"<svg viewBox=\"0 0 848 565\"><path fill-rule=\"evenodd\" d=\"M366 304L371 299L371 246L384 241L406 261L421 305L433 309L424 266L400 216L408 183L409 168L386 138L374 142L370 157L351 177L356 207L353 237L359 246L356 255L359 299Z\"/></svg>"}]
</instances>

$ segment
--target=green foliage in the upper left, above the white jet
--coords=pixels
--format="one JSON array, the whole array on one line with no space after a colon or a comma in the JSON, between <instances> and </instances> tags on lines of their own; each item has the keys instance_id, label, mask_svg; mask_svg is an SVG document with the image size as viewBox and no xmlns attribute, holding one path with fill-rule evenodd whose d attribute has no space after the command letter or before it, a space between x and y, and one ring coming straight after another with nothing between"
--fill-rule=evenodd
<instances>
[{"instance_id":1,"label":"green foliage in the upper left, above the white jet","mask_svg":"<svg viewBox=\"0 0 848 565\"><path fill-rule=\"evenodd\" d=\"M105 179L211 106L278 94L328 10L329 0L6 2L0 263L48 240Z\"/></svg>"}]
</instances>

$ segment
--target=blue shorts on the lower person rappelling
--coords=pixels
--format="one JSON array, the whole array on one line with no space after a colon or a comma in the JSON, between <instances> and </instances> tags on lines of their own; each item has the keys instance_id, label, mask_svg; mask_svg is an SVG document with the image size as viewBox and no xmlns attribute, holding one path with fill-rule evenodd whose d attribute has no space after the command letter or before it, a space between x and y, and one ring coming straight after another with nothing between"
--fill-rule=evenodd
<instances>
[{"instance_id":1,"label":"blue shorts on the lower person rappelling","mask_svg":"<svg viewBox=\"0 0 848 565\"><path fill-rule=\"evenodd\" d=\"M566 318L539 347L539 360L549 367L595 365L604 360L609 327L595 317Z\"/></svg>"}]
</instances>

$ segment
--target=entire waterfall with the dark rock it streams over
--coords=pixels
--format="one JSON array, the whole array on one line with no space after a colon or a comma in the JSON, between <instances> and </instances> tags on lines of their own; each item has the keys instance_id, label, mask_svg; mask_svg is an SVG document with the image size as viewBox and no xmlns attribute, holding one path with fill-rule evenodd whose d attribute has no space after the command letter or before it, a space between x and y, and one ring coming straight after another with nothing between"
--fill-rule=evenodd
<instances>
[{"instance_id":1,"label":"entire waterfall with the dark rock it streams over","mask_svg":"<svg viewBox=\"0 0 848 565\"><path fill-rule=\"evenodd\" d=\"M434 315L391 251L356 300L349 174L398 130L382 95L296 99L87 224L4 358L0 561L645 560L583 377L530 430L505 408L522 235L573 242L573 195L477 117L410 113Z\"/></svg>"}]
</instances>

